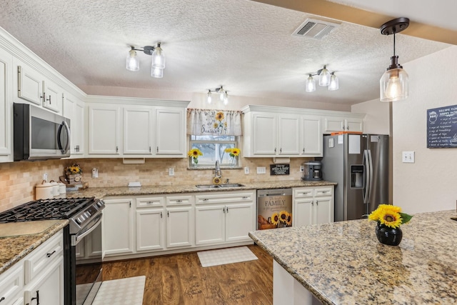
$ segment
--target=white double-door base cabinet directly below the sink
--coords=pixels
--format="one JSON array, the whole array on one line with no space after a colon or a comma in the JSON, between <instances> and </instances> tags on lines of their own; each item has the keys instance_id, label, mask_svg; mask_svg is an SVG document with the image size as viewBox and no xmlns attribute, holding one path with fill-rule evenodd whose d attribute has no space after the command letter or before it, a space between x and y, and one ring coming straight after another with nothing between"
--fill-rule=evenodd
<instances>
[{"instance_id":1,"label":"white double-door base cabinet directly below the sink","mask_svg":"<svg viewBox=\"0 0 457 305\"><path fill-rule=\"evenodd\" d=\"M256 192L198 194L195 208L196 245L249 241L256 229Z\"/></svg>"}]
</instances>

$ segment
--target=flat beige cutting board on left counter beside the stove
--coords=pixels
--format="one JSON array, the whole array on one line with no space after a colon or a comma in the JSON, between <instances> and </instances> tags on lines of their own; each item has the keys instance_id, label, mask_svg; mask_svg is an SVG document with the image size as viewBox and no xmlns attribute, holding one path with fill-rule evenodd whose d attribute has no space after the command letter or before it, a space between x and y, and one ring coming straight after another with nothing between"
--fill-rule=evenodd
<instances>
[{"instance_id":1,"label":"flat beige cutting board on left counter beside the stove","mask_svg":"<svg viewBox=\"0 0 457 305\"><path fill-rule=\"evenodd\" d=\"M32 235L40 234L54 224L57 224L59 220L41 220L41 221L22 221L22 222L9 222L6 224L0 224L0 238L21 236L21 235Z\"/></svg>"}]
</instances>

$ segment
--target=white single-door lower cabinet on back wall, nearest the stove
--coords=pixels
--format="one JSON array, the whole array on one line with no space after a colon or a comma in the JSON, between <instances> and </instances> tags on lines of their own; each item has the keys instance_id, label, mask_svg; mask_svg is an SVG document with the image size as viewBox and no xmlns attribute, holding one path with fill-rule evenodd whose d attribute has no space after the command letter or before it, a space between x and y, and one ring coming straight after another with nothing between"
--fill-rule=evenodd
<instances>
[{"instance_id":1,"label":"white single-door lower cabinet on back wall, nearest the stove","mask_svg":"<svg viewBox=\"0 0 457 305\"><path fill-rule=\"evenodd\" d=\"M104 202L104 255L134 253L134 198L107 198Z\"/></svg>"}]
</instances>

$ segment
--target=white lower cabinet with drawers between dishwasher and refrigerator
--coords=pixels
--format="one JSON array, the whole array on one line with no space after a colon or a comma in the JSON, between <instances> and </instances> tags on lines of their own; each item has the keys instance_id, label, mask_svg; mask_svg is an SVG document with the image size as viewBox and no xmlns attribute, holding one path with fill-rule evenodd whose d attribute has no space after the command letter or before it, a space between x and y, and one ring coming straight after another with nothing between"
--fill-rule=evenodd
<instances>
[{"instance_id":1,"label":"white lower cabinet with drawers between dishwasher and refrigerator","mask_svg":"<svg viewBox=\"0 0 457 305\"><path fill-rule=\"evenodd\" d=\"M293 226L333 222L333 186L293 189Z\"/></svg>"}]
</instances>

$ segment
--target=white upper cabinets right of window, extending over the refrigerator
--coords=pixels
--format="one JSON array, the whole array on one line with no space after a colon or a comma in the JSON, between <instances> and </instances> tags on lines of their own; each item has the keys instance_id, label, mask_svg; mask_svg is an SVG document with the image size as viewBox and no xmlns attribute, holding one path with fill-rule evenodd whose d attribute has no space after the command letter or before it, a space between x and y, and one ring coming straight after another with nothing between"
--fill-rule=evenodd
<instances>
[{"instance_id":1,"label":"white upper cabinets right of window, extending over the refrigerator","mask_svg":"<svg viewBox=\"0 0 457 305\"><path fill-rule=\"evenodd\" d=\"M243 116L243 156L322 156L322 136L331 131L363 132L364 114L248 105Z\"/></svg>"}]
</instances>

